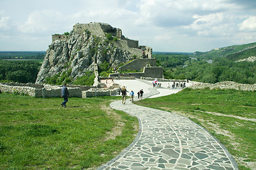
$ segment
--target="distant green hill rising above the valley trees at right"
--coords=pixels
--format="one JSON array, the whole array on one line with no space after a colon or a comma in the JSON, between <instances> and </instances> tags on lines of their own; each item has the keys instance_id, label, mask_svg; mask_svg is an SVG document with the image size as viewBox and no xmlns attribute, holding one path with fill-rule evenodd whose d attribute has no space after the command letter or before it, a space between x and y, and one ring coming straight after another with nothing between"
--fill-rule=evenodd
<instances>
[{"instance_id":1,"label":"distant green hill rising above the valley trees at right","mask_svg":"<svg viewBox=\"0 0 256 170\"><path fill-rule=\"evenodd\" d=\"M245 45L232 45L211 50L209 52L194 52L199 59L213 60L216 57L227 57L229 60L241 60L256 55L256 42Z\"/></svg>"}]
</instances>

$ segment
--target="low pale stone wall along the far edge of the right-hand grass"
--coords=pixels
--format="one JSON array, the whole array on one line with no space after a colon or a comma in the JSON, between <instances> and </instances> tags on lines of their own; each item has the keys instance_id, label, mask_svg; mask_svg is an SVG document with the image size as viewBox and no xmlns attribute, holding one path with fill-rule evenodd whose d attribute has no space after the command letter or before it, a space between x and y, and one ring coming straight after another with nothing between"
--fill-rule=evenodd
<instances>
[{"instance_id":1,"label":"low pale stone wall along the far edge of the right-hand grass","mask_svg":"<svg viewBox=\"0 0 256 170\"><path fill-rule=\"evenodd\" d=\"M216 84L199 83L189 86L191 89L235 89L240 91L256 91L256 84L238 84L233 81L223 81Z\"/></svg>"}]
</instances>

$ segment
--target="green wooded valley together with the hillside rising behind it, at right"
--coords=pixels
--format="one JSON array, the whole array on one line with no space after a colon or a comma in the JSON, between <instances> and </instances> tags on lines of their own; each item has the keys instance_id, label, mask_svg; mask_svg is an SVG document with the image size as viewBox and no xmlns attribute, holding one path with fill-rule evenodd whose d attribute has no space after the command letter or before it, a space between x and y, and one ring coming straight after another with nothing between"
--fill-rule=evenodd
<instances>
[{"instance_id":1,"label":"green wooded valley together with the hillside rising behind it, at right","mask_svg":"<svg viewBox=\"0 0 256 170\"><path fill-rule=\"evenodd\" d=\"M194 55L154 54L167 79L189 79L205 83L235 81L256 84L255 62L237 62L256 56L256 42L223 47Z\"/></svg>"}]
</instances>

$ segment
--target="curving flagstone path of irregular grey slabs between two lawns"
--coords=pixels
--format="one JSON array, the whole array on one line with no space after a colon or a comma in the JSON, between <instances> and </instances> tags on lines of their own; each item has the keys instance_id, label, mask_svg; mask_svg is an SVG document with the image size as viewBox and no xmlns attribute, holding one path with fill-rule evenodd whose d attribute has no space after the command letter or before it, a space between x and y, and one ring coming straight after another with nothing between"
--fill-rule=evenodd
<instances>
[{"instance_id":1,"label":"curving flagstone path of irregular grey slabs between two lawns","mask_svg":"<svg viewBox=\"0 0 256 170\"><path fill-rule=\"evenodd\" d=\"M144 97L159 94L155 88ZM238 169L233 157L204 128L181 115L126 101L111 108L135 115L140 130L135 141L100 169Z\"/></svg>"}]
</instances>

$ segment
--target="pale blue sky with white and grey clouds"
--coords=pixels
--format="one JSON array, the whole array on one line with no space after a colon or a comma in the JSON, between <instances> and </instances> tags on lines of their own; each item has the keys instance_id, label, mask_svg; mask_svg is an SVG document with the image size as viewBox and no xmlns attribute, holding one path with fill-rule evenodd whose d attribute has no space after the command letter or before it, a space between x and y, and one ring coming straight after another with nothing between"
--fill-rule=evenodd
<instances>
[{"instance_id":1,"label":"pale blue sky with white and grey clouds","mask_svg":"<svg viewBox=\"0 0 256 170\"><path fill-rule=\"evenodd\" d=\"M0 51L46 51L76 23L121 28L155 52L256 42L255 0L0 0Z\"/></svg>"}]
</instances>

